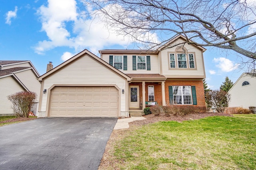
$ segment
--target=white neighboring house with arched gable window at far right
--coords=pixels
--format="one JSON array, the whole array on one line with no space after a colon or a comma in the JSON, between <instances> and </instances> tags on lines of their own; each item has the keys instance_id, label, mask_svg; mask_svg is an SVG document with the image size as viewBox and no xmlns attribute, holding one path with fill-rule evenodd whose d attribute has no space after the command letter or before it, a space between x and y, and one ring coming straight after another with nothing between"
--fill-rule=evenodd
<instances>
[{"instance_id":1,"label":"white neighboring house with arched gable window at far right","mask_svg":"<svg viewBox=\"0 0 256 170\"><path fill-rule=\"evenodd\" d=\"M256 107L256 70L243 73L228 91L229 107Z\"/></svg>"}]
</instances>

